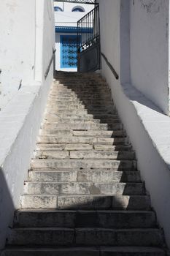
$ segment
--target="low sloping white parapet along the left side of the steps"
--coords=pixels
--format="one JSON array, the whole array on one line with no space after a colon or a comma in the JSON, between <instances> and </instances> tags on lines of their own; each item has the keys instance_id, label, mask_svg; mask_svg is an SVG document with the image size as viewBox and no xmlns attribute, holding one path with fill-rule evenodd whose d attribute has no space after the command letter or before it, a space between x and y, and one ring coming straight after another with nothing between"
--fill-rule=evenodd
<instances>
[{"instance_id":1,"label":"low sloping white parapet along the left side of the steps","mask_svg":"<svg viewBox=\"0 0 170 256\"><path fill-rule=\"evenodd\" d=\"M53 82L53 70L44 82L22 86L0 111L0 249L4 247L14 211L36 146L36 138Z\"/></svg>"}]
</instances>

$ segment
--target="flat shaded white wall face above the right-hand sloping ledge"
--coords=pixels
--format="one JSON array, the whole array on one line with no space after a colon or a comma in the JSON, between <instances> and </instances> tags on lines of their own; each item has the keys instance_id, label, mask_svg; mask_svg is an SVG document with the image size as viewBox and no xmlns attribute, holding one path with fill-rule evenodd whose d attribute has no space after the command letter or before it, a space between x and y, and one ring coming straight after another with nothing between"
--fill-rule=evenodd
<instances>
[{"instance_id":1,"label":"flat shaded white wall face above the right-hand sloping ledge","mask_svg":"<svg viewBox=\"0 0 170 256\"><path fill-rule=\"evenodd\" d=\"M169 114L169 0L131 0L130 23L131 83Z\"/></svg>"}]
</instances>

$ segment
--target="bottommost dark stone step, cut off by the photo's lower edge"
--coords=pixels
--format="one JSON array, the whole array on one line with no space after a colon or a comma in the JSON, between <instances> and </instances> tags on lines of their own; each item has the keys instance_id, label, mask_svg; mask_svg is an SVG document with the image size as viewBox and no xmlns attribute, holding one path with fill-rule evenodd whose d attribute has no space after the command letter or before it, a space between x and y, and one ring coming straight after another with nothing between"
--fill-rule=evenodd
<instances>
[{"instance_id":1,"label":"bottommost dark stone step, cut off by the photo's lower edge","mask_svg":"<svg viewBox=\"0 0 170 256\"><path fill-rule=\"evenodd\" d=\"M70 247L70 248L11 248L2 256L166 256L166 252L154 247Z\"/></svg>"}]
</instances>

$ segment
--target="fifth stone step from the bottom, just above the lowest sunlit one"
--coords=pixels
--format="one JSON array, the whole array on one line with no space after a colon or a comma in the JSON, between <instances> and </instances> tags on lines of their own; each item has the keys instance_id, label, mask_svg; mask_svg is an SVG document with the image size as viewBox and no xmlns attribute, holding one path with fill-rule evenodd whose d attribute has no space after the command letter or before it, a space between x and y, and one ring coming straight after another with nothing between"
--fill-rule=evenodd
<instances>
[{"instance_id":1,"label":"fifth stone step from the bottom, just above the lowest sunlit one","mask_svg":"<svg viewBox=\"0 0 170 256\"><path fill-rule=\"evenodd\" d=\"M28 195L144 195L143 183L25 182Z\"/></svg>"}]
</instances>

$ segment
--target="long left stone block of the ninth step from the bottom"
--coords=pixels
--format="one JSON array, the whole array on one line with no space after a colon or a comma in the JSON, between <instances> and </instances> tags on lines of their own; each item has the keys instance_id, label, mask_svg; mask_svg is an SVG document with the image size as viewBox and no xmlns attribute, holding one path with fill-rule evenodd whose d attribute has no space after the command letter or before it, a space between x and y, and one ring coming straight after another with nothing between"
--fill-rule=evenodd
<instances>
[{"instance_id":1,"label":"long left stone block of the ninth step from the bottom","mask_svg":"<svg viewBox=\"0 0 170 256\"><path fill-rule=\"evenodd\" d=\"M92 150L93 145L87 143L37 143L37 150L53 150L53 151L62 151L62 150Z\"/></svg>"}]
</instances>

